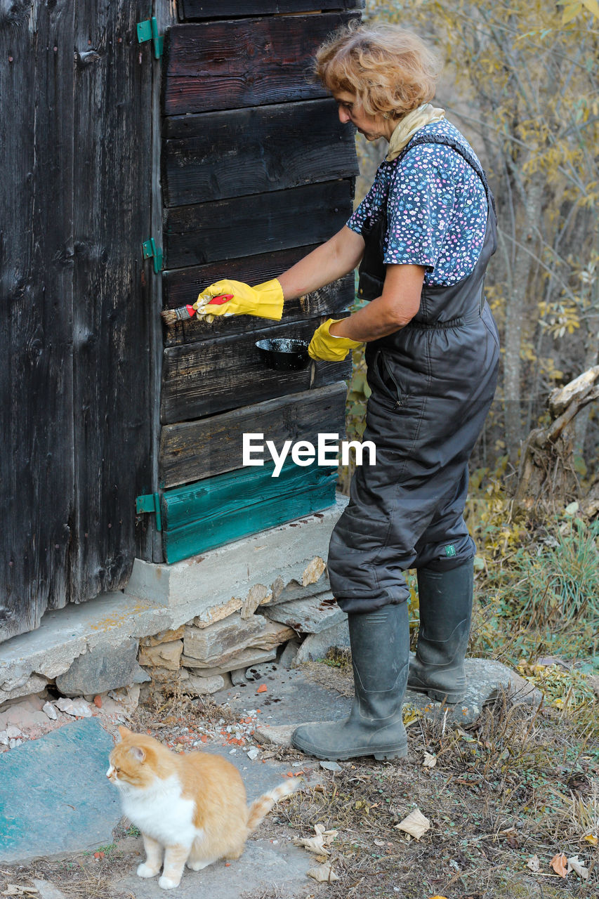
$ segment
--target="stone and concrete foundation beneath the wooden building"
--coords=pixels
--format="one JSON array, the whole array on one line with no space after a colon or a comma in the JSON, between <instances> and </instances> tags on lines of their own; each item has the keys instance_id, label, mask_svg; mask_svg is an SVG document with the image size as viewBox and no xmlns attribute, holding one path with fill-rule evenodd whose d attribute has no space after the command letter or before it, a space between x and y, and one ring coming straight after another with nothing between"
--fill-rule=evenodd
<instances>
[{"instance_id":1,"label":"stone and concrete foundation beneath the wooden building","mask_svg":"<svg viewBox=\"0 0 599 899\"><path fill-rule=\"evenodd\" d=\"M337 639L345 617L324 559L346 502L174 565L136 560L124 592L49 611L0 645L0 709L49 686L71 698L144 683L199 696L283 650L291 663L308 635Z\"/></svg>"}]
</instances>

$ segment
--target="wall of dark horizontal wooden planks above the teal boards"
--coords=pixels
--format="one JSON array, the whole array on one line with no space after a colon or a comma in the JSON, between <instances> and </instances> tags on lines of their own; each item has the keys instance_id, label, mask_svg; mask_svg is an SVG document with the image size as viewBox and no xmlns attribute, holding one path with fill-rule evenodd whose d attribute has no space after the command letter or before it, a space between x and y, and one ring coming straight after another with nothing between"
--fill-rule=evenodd
<instances>
[{"instance_id":1,"label":"wall of dark horizontal wooden planks above the teal boards","mask_svg":"<svg viewBox=\"0 0 599 899\"><path fill-rule=\"evenodd\" d=\"M316 13L313 5L179 4L184 21L166 35L163 82L167 308L194 302L219 278L255 284L276 276L351 214L357 174L353 129L340 125L335 102L309 68L320 43L359 15L362 4L327 0L317 4ZM264 368L255 341L309 340L317 325L343 314L352 301L349 275L286 303L281 323L238 316L165 330L159 457L165 520L169 488L188 485L191 494L196 479L239 469L241 435L258 423L258 431L277 445L344 432L340 382L350 360L282 373ZM248 474L258 476L259 469ZM279 506L287 497L288 518L295 509L294 476L303 477L309 490L305 469L291 470L281 482ZM329 487L325 505L334 498L334 483ZM270 524L265 501L262 526Z\"/></svg>"}]
</instances>

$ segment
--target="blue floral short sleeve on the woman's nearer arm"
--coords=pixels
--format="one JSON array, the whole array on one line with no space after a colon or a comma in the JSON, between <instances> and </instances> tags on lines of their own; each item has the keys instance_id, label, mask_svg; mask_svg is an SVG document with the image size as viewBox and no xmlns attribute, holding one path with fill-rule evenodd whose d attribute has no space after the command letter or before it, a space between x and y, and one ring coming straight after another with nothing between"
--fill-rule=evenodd
<instances>
[{"instance_id":1,"label":"blue floral short sleeve on the woman's nearer arm","mask_svg":"<svg viewBox=\"0 0 599 899\"><path fill-rule=\"evenodd\" d=\"M434 270L453 215L455 159L449 147L421 145L396 167L389 185L385 263Z\"/></svg>"}]
</instances>

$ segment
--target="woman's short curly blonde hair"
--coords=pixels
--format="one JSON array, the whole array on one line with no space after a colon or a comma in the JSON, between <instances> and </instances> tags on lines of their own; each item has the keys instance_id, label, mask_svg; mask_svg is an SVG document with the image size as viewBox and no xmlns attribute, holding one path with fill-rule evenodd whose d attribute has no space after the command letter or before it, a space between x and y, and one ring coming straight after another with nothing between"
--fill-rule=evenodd
<instances>
[{"instance_id":1,"label":"woman's short curly blonde hair","mask_svg":"<svg viewBox=\"0 0 599 899\"><path fill-rule=\"evenodd\" d=\"M368 115L401 118L434 97L439 60L398 25L351 22L317 50L314 73L328 91L355 94Z\"/></svg>"}]
</instances>

